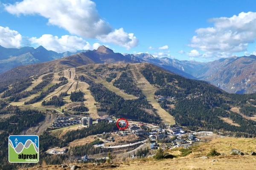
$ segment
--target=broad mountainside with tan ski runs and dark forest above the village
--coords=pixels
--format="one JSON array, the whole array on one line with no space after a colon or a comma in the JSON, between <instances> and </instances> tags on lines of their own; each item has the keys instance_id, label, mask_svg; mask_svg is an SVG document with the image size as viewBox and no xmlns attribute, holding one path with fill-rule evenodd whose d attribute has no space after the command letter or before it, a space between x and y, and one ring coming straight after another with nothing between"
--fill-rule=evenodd
<instances>
[{"instance_id":1,"label":"broad mountainside with tan ski runs and dark forest above the village","mask_svg":"<svg viewBox=\"0 0 256 170\"><path fill-rule=\"evenodd\" d=\"M23 78L23 81L10 84L9 87L2 85L1 96L9 105L47 108L45 103L42 106L42 102L50 105L47 101L52 96L67 93L67 96L59 97L61 104L51 106L61 111L72 105L68 99L71 92L80 90L85 94L83 105L95 115L99 112L157 124L176 122L190 130L218 130L235 136L252 137L256 132L256 122L248 119L254 117L256 111L254 94L228 94L207 82L186 79L146 63L89 64L93 62L81 53L52 62L20 67L20 73L27 72L24 77L37 76ZM51 65L51 69L46 65ZM38 77L49 72L53 72L53 79L43 80L42 76ZM16 75L18 77L20 74ZM66 80L61 81L60 77ZM40 88L38 82L41 82ZM6 91L7 88L9 90ZM41 94L39 91L42 91ZM98 103L96 108L92 107L93 102ZM241 113L233 112L235 107ZM234 126L230 121L239 126Z\"/></svg>"}]
</instances>

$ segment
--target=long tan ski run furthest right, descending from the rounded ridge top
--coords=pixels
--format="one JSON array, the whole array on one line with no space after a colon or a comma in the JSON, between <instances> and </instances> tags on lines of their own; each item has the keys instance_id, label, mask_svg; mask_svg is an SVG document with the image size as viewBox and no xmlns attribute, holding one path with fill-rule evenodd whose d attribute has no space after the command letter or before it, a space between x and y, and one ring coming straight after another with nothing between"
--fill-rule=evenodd
<instances>
[{"instance_id":1,"label":"long tan ski run furthest right, descending from the rounded ridge top","mask_svg":"<svg viewBox=\"0 0 256 170\"><path fill-rule=\"evenodd\" d=\"M154 99L154 93L157 90L151 85L147 79L140 73L141 64L129 65L134 79L137 81L137 87L140 88L143 94L146 96L148 102L157 110L156 113L160 116L164 123L174 125L175 120L167 111L160 107L157 101Z\"/></svg>"}]
</instances>

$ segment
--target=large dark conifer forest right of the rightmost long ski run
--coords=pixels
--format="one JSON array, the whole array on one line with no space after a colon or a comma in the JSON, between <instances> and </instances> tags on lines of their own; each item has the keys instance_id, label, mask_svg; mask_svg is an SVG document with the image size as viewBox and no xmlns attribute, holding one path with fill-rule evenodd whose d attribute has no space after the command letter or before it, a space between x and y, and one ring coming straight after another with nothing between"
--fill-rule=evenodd
<instances>
[{"instance_id":1,"label":"large dark conifer forest right of the rightmost long ski run","mask_svg":"<svg viewBox=\"0 0 256 170\"><path fill-rule=\"evenodd\" d=\"M168 101L160 106L175 117L175 122L189 130L218 130L236 137L255 137L256 122L243 118L230 111L231 107L241 107L240 112L247 116L255 114L256 109L248 105L255 101L255 94L228 94L204 81L186 79L166 71L143 68L141 73L159 90L155 95L175 98L175 108L168 108ZM230 125L221 118L229 118L240 126Z\"/></svg>"}]
</instances>

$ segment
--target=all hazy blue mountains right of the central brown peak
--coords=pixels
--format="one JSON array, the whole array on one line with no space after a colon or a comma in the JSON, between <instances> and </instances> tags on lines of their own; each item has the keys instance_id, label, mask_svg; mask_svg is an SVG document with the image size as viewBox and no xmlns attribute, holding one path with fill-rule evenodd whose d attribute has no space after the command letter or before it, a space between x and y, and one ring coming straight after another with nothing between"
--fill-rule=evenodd
<instances>
[{"instance_id":1,"label":"all hazy blue mountains right of the central brown peak","mask_svg":"<svg viewBox=\"0 0 256 170\"><path fill-rule=\"evenodd\" d=\"M169 57L157 58L151 54L126 54L132 60L148 62L172 73L191 79L210 82L229 93L256 92L256 56L230 57L212 62L180 61Z\"/></svg>"}]
</instances>

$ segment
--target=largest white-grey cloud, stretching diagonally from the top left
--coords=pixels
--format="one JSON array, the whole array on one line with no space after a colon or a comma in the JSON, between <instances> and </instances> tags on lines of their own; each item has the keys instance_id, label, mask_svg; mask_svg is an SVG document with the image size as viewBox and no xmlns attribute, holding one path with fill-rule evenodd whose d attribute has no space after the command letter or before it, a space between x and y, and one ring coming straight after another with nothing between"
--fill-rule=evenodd
<instances>
[{"instance_id":1,"label":"largest white-grey cloud, stretching diagonally from the top left","mask_svg":"<svg viewBox=\"0 0 256 170\"><path fill-rule=\"evenodd\" d=\"M48 24L64 28L70 34L85 38L98 38L127 49L137 46L133 33L123 28L113 30L96 10L91 0L23 0L15 4L4 4L11 14L38 14L48 19Z\"/></svg>"}]
</instances>

